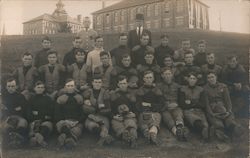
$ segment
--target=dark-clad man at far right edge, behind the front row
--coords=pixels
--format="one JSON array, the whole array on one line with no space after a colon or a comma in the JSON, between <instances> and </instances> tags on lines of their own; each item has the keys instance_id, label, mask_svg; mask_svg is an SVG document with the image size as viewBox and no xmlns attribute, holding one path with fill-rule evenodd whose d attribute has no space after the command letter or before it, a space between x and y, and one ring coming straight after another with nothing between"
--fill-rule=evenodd
<instances>
[{"instance_id":1,"label":"dark-clad man at far right edge, behind the front row","mask_svg":"<svg viewBox=\"0 0 250 158\"><path fill-rule=\"evenodd\" d=\"M222 81L228 86L235 115L248 117L249 85L247 71L238 63L236 56L228 57L228 64L222 70Z\"/></svg>"}]
</instances>

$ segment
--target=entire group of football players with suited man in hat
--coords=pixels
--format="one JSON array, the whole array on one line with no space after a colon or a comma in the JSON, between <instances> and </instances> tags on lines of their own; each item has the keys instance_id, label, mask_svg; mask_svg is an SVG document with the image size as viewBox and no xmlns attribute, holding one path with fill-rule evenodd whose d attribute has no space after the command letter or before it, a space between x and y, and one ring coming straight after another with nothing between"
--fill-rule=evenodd
<instances>
[{"instance_id":1,"label":"entire group of football players with suited man in hat","mask_svg":"<svg viewBox=\"0 0 250 158\"><path fill-rule=\"evenodd\" d=\"M24 53L3 95L6 145L46 147L56 133L60 147L73 148L83 130L95 133L98 145L117 138L136 147L139 133L159 145L161 123L179 141L188 141L188 131L204 142L240 136L235 115L248 109L249 86L237 56L221 67L205 40L195 51L184 39L174 51L165 33L154 48L150 31L138 26L120 34L111 51L102 36L94 38L93 50L81 48L76 36L62 64L48 37L34 58Z\"/></svg>"}]
</instances>

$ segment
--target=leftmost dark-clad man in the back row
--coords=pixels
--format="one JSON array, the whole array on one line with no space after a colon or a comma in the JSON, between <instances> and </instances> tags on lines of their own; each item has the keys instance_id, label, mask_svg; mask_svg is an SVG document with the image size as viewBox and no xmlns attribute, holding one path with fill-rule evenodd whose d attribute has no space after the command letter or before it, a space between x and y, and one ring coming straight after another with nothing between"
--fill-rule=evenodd
<instances>
[{"instance_id":1,"label":"leftmost dark-clad man in the back row","mask_svg":"<svg viewBox=\"0 0 250 158\"><path fill-rule=\"evenodd\" d=\"M51 39L48 36L42 39L42 47L41 50L35 53L34 66L36 68L48 64L48 51L51 49Z\"/></svg>"}]
</instances>

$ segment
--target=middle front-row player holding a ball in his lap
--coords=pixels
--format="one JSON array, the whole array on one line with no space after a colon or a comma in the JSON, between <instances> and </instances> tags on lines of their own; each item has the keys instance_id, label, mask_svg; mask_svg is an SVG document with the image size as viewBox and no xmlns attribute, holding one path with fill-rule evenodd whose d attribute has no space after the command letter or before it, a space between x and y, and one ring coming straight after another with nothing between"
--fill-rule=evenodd
<instances>
[{"instance_id":1,"label":"middle front-row player holding a ball in his lap","mask_svg":"<svg viewBox=\"0 0 250 158\"><path fill-rule=\"evenodd\" d=\"M136 98L128 89L126 76L119 76L117 89L110 93L112 128L118 138L136 147L137 120L134 113Z\"/></svg>"}]
</instances>

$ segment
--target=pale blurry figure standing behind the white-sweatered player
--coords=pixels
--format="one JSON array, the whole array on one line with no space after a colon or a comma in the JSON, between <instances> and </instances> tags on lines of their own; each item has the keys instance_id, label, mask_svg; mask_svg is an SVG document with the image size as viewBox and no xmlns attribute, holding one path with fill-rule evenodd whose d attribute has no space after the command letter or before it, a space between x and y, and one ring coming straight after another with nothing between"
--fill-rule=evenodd
<instances>
[{"instance_id":1,"label":"pale blurry figure standing behind the white-sweatered player","mask_svg":"<svg viewBox=\"0 0 250 158\"><path fill-rule=\"evenodd\" d=\"M77 36L82 39L81 48L83 48L86 52L90 52L94 49L95 38L97 37L97 32L93 29L90 29L89 26L91 21L89 17L85 17L83 19L83 27L84 29L81 30Z\"/></svg>"}]
</instances>

